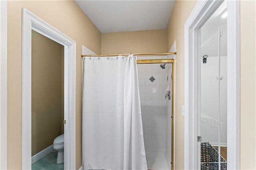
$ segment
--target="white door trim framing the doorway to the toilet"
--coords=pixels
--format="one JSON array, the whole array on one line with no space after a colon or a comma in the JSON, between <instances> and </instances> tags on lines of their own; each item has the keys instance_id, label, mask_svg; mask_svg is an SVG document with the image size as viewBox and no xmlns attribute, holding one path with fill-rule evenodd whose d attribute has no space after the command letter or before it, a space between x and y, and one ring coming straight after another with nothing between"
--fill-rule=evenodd
<instances>
[{"instance_id":1,"label":"white door trim framing the doorway to the toilet","mask_svg":"<svg viewBox=\"0 0 256 170\"><path fill-rule=\"evenodd\" d=\"M31 32L64 45L64 169L76 168L76 42L22 8L22 169L31 169Z\"/></svg>"}]
</instances>

